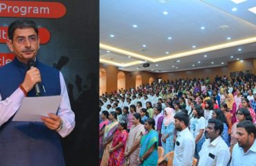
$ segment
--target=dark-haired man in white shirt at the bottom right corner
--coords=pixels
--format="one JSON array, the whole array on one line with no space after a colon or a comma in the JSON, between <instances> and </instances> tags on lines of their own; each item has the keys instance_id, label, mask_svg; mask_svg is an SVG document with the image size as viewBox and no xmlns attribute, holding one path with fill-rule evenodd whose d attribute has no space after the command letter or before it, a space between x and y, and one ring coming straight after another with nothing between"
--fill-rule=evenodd
<instances>
[{"instance_id":1,"label":"dark-haired man in white shirt at the bottom right corner","mask_svg":"<svg viewBox=\"0 0 256 166\"><path fill-rule=\"evenodd\" d=\"M250 120L244 120L237 124L238 143L232 151L230 166L256 166L256 127Z\"/></svg>"}]
</instances>

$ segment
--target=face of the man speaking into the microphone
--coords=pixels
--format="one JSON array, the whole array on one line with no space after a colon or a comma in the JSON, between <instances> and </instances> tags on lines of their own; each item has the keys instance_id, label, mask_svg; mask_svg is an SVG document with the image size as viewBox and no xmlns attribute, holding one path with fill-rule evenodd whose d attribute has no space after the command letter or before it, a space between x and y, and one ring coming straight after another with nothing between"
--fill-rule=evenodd
<instances>
[{"instance_id":1,"label":"face of the man speaking into the microphone","mask_svg":"<svg viewBox=\"0 0 256 166\"><path fill-rule=\"evenodd\" d=\"M37 55L39 37L33 28L17 28L13 39L7 40L8 48L15 53L19 61L26 63Z\"/></svg>"}]
</instances>

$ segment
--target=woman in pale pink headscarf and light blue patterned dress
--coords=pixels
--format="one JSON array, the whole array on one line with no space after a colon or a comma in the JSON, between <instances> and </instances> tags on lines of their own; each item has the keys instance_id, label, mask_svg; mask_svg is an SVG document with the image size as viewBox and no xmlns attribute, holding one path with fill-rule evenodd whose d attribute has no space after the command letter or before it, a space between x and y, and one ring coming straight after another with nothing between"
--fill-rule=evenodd
<instances>
[{"instance_id":1,"label":"woman in pale pink headscarf and light blue patterned dress","mask_svg":"<svg viewBox=\"0 0 256 166\"><path fill-rule=\"evenodd\" d=\"M164 118L162 124L162 146L165 150L165 154L169 153L170 151L174 151L174 109L170 107L165 108L164 111ZM164 154L164 155L165 155Z\"/></svg>"}]
</instances>

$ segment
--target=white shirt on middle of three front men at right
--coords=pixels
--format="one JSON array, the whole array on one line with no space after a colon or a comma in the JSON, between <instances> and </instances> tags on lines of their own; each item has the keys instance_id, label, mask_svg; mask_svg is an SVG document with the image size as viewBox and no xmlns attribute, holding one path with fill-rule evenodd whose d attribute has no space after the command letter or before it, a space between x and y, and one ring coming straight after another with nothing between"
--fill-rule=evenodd
<instances>
[{"instance_id":1,"label":"white shirt on middle of three front men at right","mask_svg":"<svg viewBox=\"0 0 256 166\"><path fill-rule=\"evenodd\" d=\"M212 142L210 142L210 139L203 142L199 157L198 166L226 166L230 160L230 150L221 136L218 136Z\"/></svg>"}]
</instances>

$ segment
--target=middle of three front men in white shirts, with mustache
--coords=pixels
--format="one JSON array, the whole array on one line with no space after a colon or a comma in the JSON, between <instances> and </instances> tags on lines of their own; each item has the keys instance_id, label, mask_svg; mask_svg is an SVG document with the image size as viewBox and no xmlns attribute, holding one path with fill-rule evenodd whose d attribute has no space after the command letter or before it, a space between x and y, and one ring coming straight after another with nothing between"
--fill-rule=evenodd
<instances>
[{"instance_id":1,"label":"middle of three front men in white shirts, with mustache","mask_svg":"<svg viewBox=\"0 0 256 166\"><path fill-rule=\"evenodd\" d=\"M199 152L198 166L228 165L230 150L226 142L221 138L223 122L219 119L208 120L208 127L205 129L205 142Z\"/></svg>"}]
</instances>

